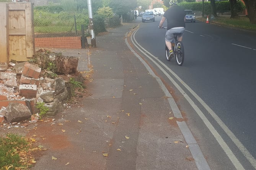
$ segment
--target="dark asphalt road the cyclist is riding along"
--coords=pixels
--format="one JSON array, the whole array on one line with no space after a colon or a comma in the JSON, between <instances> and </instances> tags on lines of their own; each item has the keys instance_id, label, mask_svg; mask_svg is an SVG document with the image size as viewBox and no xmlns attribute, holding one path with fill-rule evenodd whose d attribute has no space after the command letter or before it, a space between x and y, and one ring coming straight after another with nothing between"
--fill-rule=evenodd
<instances>
[{"instance_id":1,"label":"dark asphalt road the cyclist is riding along","mask_svg":"<svg viewBox=\"0 0 256 170\"><path fill-rule=\"evenodd\" d=\"M199 21L186 23L185 60L178 66L174 59L165 60L160 19L139 23L134 44L145 49L141 55L160 65L147 58L173 87L207 161L214 169L255 169L256 33Z\"/></svg>"}]
</instances>

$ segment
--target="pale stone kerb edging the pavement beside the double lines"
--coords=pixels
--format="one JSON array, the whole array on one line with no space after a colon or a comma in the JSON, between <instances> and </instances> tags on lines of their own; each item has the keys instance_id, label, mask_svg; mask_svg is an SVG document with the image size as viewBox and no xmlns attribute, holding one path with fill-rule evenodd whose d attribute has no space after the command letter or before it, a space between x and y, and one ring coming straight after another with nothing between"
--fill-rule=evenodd
<instances>
[{"instance_id":1,"label":"pale stone kerb edging the pavement beside the double lines","mask_svg":"<svg viewBox=\"0 0 256 170\"><path fill-rule=\"evenodd\" d=\"M150 66L132 49L132 47L129 45L129 42L127 40L128 38L128 34L134 34L134 29L137 27L137 25L132 29L131 31L128 31L126 33L126 45L129 47L130 51L143 63L143 65L145 66L145 68L147 68L148 72L150 73L150 75L152 75L153 77L155 77L157 79L157 82L160 86L160 88L163 90L163 92L165 93L165 95L168 97L168 102L170 104L171 110L174 113L174 116L176 118L182 118L181 112L176 104L176 102L174 101L173 97L171 96L171 93L167 90L167 88L165 87L165 85L163 84L163 82L161 81L161 79L155 75L154 71L150 68ZM131 36L132 37L132 36ZM131 38L132 44L134 44L132 38ZM189 130L187 124L185 121L176 121L181 133L183 134L186 142L188 143L188 147L189 150L192 154L193 159L196 162L196 166L199 170L210 170L210 167L206 161L206 159L204 158L204 155L199 147L199 145L196 142L196 139L194 138L194 136L192 135L191 131Z\"/></svg>"}]
</instances>

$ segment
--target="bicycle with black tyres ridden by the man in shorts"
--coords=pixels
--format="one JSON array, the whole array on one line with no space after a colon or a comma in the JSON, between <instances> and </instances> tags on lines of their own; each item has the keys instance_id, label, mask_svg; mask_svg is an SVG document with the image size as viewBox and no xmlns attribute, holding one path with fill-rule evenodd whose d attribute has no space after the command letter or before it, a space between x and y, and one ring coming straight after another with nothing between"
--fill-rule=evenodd
<instances>
[{"instance_id":1,"label":"bicycle with black tyres ridden by the man in shorts","mask_svg":"<svg viewBox=\"0 0 256 170\"><path fill-rule=\"evenodd\" d=\"M167 27L163 27L163 29L167 29ZM173 50L173 57L176 58L176 62L179 66L182 66L183 62L184 62L184 46L182 44L181 41L178 41L178 36L180 36L181 33L174 33L174 50ZM168 47L165 45L165 57L167 61L170 61L171 58L173 57L169 57L169 49Z\"/></svg>"}]
</instances>

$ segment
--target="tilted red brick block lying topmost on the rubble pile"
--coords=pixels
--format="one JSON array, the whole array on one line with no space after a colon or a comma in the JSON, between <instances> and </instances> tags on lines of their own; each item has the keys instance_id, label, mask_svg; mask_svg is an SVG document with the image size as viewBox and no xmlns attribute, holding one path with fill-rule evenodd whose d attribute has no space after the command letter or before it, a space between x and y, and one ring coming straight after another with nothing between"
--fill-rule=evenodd
<instances>
[{"instance_id":1,"label":"tilted red brick block lying topmost on the rubble pile","mask_svg":"<svg viewBox=\"0 0 256 170\"><path fill-rule=\"evenodd\" d=\"M39 74L41 73L41 68L36 65L33 65L29 62L26 62L24 64L24 67L23 67L23 70L21 71L21 73L24 74L25 76L38 79Z\"/></svg>"}]
</instances>

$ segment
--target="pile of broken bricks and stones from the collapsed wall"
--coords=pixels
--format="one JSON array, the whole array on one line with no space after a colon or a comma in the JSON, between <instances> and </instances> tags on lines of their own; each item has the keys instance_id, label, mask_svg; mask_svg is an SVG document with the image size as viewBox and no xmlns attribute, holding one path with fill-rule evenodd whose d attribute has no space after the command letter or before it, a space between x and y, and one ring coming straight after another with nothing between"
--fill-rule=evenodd
<instances>
[{"instance_id":1,"label":"pile of broken bricks and stones from the collapsed wall","mask_svg":"<svg viewBox=\"0 0 256 170\"><path fill-rule=\"evenodd\" d=\"M54 71L49 69L49 63L54 63ZM83 83L77 66L77 57L44 50L38 51L29 62L0 64L0 123L30 118L36 122L38 102L49 108L46 115L61 112L71 97L70 78Z\"/></svg>"}]
</instances>

